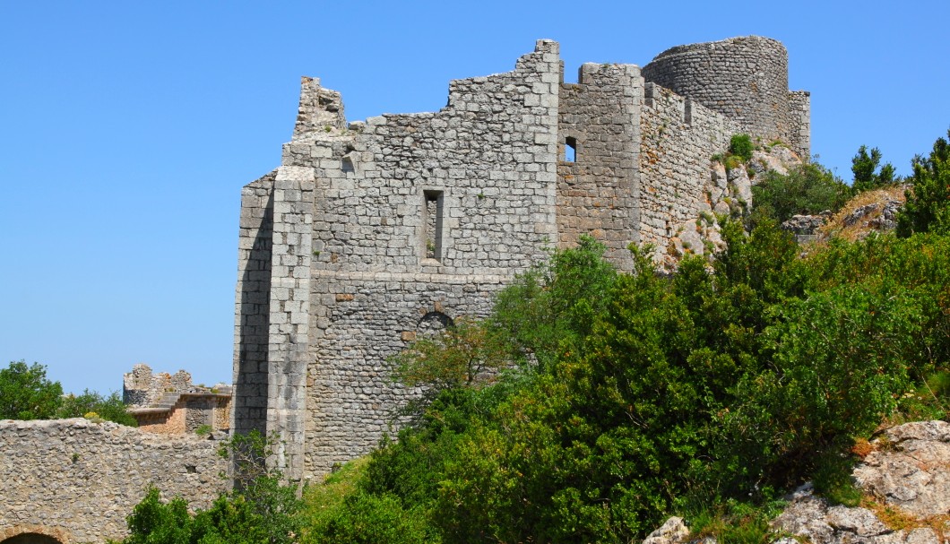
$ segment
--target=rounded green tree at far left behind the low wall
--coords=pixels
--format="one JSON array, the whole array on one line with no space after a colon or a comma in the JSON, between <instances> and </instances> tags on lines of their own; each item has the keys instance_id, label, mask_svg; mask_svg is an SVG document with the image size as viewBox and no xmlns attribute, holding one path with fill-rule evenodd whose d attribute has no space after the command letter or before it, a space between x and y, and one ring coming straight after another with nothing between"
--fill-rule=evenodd
<instances>
[{"instance_id":1,"label":"rounded green tree at far left behind the low wall","mask_svg":"<svg viewBox=\"0 0 950 544\"><path fill-rule=\"evenodd\" d=\"M47 380L47 367L39 363L11 362L0 370L0 419L48 420L62 396L63 386Z\"/></svg>"}]
</instances>

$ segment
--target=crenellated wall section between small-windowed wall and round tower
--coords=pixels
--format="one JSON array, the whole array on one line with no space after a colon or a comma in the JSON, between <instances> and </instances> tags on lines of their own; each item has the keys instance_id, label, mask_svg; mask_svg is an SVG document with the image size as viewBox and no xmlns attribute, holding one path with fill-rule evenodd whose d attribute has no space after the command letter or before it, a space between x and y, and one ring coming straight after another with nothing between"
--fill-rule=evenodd
<instances>
[{"instance_id":1,"label":"crenellated wall section between small-windowed wall and round tower","mask_svg":"<svg viewBox=\"0 0 950 544\"><path fill-rule=\"evenodd\" d=\"M640 241L668 251L671 238L708 209L712 156L741 129L693 99L657 84L645 85L640 119ZM705 206L704 206L705 204Z\"/></svg>"}]
</instances>

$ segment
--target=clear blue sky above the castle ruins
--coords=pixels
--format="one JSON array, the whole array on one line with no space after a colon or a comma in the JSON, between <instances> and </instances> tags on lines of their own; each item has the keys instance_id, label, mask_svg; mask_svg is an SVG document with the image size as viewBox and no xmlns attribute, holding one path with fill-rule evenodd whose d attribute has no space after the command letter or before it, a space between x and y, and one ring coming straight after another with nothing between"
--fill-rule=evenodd
<instances>
[{"instance_id":1,"label":"clear blue sky above the castle ruins","mask_svg":"<svg viewBox=\"0 0 950 544\"><path fill-rule=\"evenodd\" d=\"M0 365L121 390L138 362L230 382L240 188L294 127L299 78L347 117L432 111L450 79L538 38L640 66L760 34L811 91L812 152L898 172L950 127L950 8L933 2L3 2Z\"/></svg>"}]
</instances>

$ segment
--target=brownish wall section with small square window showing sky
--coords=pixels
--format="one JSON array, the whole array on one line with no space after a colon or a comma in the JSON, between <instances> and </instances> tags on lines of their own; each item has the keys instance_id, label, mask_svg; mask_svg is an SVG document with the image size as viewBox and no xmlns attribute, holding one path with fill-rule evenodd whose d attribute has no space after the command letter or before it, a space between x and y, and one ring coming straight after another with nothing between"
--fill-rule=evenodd
<instances>
[{"instance_id":1,"label":"brownish wall section with small square window showing sky","mask_svg":"<svg viewBox=\"0 0 950 544\"><path fill-rule=\"evenodd\" d=\"M640 108L643 79L632 65L580 66L578 84L561 84L558 231L561 248L591 234L607 258L632 270L638 242ZM574 161L563 160L575 146Z\"/></svg>"}]
</instances>

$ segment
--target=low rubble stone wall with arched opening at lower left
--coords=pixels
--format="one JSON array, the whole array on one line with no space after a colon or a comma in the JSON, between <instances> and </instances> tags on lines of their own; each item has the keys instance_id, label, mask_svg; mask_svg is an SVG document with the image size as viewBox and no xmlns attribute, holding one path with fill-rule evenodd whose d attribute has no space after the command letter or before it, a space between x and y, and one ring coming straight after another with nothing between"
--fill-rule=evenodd
<instances>
[{"instance_id":1,"label":"low rubble stone wall with arched opening at lower left","mask_svg":"<svg viewBox=\"0 0 950 544\"><path fill-rule=\"evenodd\" d=\"M218 445L113 422L0 421L0 535L63 544L123 538L125 517L149 485L207 508L226 485Z\"/></svg>"}]
</instances>

